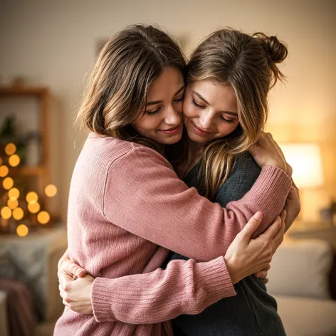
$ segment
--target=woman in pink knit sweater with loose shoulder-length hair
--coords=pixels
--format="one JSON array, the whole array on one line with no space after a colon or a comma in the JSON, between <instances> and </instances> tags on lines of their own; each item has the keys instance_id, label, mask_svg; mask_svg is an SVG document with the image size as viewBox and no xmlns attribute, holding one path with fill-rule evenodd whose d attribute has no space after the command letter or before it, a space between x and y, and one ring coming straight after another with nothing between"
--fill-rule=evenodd
<instances>
[{"instance_id":1,"label":"woman in pink knit sweater with loose shoulder-length hair","mask_svg":"<svg viewBox=\"0 0 336 336\"><path fill-rule=\"evenodd\" d=\"M229 248L253 214L263 212L258 236L285 205L290 169L271 137L253 149L262 166L256 183L226 209L188 189L162 156L182 137L184 70L179 48L152 27L122 31L98 58L79 112L93 133L76 163L68 207L68 253L95 277L95 317L65 308L55 335L171 335L169 322L159 323L163 317L199 313L235 295L232 283L267 265L253 246L265 235L276 242L261 255L278 246L274 224L246 250L236 249L243 258L232 252L234 243ZM171 261L157 270L167 249L207 262ZM125 294L124 302L114 300L113 290ZM111 320L120 322L104 322Z\"/></svg>"}]
</instances>

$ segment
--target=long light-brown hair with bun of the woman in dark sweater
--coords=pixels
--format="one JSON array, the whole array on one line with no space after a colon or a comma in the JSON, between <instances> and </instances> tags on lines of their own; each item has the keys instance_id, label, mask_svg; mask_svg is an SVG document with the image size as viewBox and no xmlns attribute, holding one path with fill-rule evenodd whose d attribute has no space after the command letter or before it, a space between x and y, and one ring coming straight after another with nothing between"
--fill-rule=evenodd
<instances>
[{"instance_id":1,"label":"long light-brown hair with bun of the woman in dark sweater","mask_svg":"<svg viewBox=\"0 0 336 336\"><path fill-rule=\"evenodd\" d=\"M236 130L203 148L199 177L205 196L214 197L229 176L236 155L250 149L261 135L268 116L268 91L284 78L276 63L287 53L275 36L250 36L231 28L211 33L192 53L187 82L211 80L229 85L238 106Z\"/></svg>"}]
</instances>

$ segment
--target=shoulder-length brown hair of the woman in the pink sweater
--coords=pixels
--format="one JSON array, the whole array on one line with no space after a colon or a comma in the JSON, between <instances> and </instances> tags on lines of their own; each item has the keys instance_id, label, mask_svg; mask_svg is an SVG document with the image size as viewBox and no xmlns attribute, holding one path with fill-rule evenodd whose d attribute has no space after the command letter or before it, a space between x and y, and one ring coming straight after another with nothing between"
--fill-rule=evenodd
<instances>
[{"instance_id":1,"label":"shoulder-length brown hair of the woman in the pink sweater","mask_svg":"<svg viewBox=\"0 0 336 336\"><path fill-rule=\"evenodd\" d=\"M76 121L103 137L141 143L162 152L162 145L132 127L146 105L149 86L172 67L185 75L178 44L154 26L134 25L112 37L98 56Z\"/></svg>"}]
</instances>

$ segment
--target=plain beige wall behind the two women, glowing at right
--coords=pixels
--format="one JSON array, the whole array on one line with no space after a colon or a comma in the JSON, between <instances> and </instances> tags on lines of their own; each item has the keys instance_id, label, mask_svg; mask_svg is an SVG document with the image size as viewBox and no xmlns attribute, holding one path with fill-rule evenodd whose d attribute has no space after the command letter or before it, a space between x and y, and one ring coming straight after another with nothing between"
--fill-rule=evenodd
<instances>
[{"instance_id":1,"label":"plain beige wall behind the two women, glowing at right","mask_svg":"<svg viewBox=\"0 0 336 336\"><path fill-rule=\"evenodd\" d=\"M63 216L70 176L83 133L73 129L83 77L98 41L130 23L159 23L187 38L186 51L219 26L263 31L286 41L290 55L286 85L271 95L269 130L282 141L314 140L324 146L323 194L336 182L333 93L335 90L335 5L323 1L0 1L0 80L23 75L53 93L51 153L53 182L60 189ZM316 208L316 206L315 206ZM315 209L316 210L316 209ZM315 211L316 212L316 211Z\"/></svg>"}]
</instances>

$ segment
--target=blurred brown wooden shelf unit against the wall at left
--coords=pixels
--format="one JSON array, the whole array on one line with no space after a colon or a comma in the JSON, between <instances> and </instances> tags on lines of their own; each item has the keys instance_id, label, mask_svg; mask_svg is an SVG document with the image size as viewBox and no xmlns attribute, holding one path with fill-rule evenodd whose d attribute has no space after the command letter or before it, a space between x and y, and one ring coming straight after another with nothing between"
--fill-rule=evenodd
<instances>
[{"instance_id":1,"label":"blurred brown wooden shelf unit against the wall at left","mask_svg":"<svg viewBox=\"0 0 336 336\"><path fill-rule=\"evenodd\" d=\"M51 183L51 168L49 156L49 120L50 120L50 91L46 87L26 85L0 86L1 98L31 97L38 99L38 132L41 139L41 164L37 167L20 166L11 168L14 174L23 177L38 178L38 192L43 195L44 187ZM43 196L47 211L50 211L50 199Z\"/></svg>"}]
</instances>

